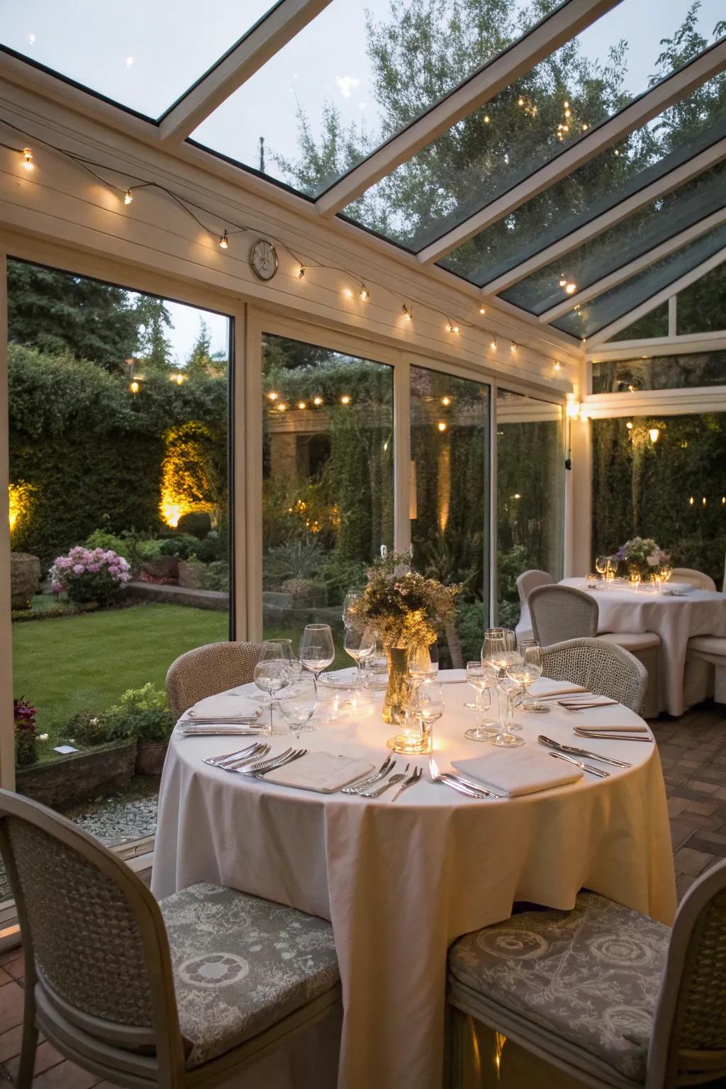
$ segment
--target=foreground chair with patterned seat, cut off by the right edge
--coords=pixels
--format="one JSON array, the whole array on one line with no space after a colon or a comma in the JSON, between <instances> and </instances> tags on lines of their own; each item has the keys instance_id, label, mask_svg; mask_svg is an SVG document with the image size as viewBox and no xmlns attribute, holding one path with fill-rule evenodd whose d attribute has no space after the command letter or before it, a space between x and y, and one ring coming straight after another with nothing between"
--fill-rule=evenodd
<instances>
[{"instance_id":1,"label":"foreground chair with patterned seat, cut off by the right edge","mask_svg":"<svg viewBox=\"0 0 726 1089\"><path fill-rule=\"evenodd\" d=\"M466 934L448 968L452 1085L490 1084L485 1027L507 1085L678 1089L726 1075L726 861L691 886L673 930L581 892L573 911ZM529 1055L529 1078L507 1079L507 1047L520 1070Z\"/></svg>"}]
</instances>

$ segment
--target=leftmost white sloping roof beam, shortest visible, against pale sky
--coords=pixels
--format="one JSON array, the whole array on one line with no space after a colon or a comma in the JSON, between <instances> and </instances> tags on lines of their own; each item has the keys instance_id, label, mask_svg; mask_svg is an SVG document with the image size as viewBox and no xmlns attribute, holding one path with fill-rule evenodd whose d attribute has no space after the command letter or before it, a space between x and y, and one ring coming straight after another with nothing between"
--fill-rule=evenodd
<instances>
[{"instance_id":1,"label":"leftmost white sloping roof beam, shortest visible, against pale sky","mask_svg":"<svg viewBox=\"0 0 726 1089\"><path fill-rule=\"evenodd\" d=\"M315 19L330 0L282 0L213 69L171 107L159 123L162 143L181 144Z\"/></svg>"}]
</instances>

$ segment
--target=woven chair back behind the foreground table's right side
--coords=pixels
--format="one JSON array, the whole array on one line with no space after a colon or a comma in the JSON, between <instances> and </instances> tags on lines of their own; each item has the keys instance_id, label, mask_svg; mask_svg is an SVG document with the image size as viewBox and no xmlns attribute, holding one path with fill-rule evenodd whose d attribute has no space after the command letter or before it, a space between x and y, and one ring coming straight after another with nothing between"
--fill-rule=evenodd
<instances>
[{"instance_id":1,"label":"woven chair back behind the foreground table's right side","mask_svg":"<svg viewBox=\"0 0 726 1089\"><path fill-rule=\"evenodd\" d=\"M640 714L648 671L629 650L605 639L567 639L545 647L542 676L570 681L596 696L610 696Z\"/></svg>"}]
</instances>

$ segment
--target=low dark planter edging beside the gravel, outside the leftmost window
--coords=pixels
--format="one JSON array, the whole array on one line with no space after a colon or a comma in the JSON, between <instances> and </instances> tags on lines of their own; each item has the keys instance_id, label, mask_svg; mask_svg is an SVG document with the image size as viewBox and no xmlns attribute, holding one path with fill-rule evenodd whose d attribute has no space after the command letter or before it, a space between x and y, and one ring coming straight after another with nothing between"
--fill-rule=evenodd
<instances>
[{"instance_id":1,"label":"low dark planter edging beside the gravel, outside the leftmost window","mask_svg":"<svg viewBox=\"0 0 726 1089\"><path fill-rule=\"evenodd\" d=\"M19 768L15 790L52 809L114 794L128 786L136 761L136 738L97 745L49 763Z\"/></svg>"}]
</instances>

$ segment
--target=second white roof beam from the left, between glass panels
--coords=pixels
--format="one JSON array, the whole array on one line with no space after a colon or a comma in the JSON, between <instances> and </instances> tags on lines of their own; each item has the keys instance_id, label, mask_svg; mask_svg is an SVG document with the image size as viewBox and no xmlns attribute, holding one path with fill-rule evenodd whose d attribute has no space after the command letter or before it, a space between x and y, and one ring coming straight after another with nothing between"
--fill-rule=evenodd
<instances>
[{"instance_id":1,"label":"second white roof beam from the left, between glass panels","mask_svg":"<svg viewBox=\"0 0 726 1089\"><path fill-rule=\"evenodd\" d=\"M569 41L620 0L569 0L524 38L479 69L422 117L396 133L344 174L316 201L322 216L334 216L376 182L410 159L462 118L488 102L544 57Z\"/></svg>"}]
</instances>

